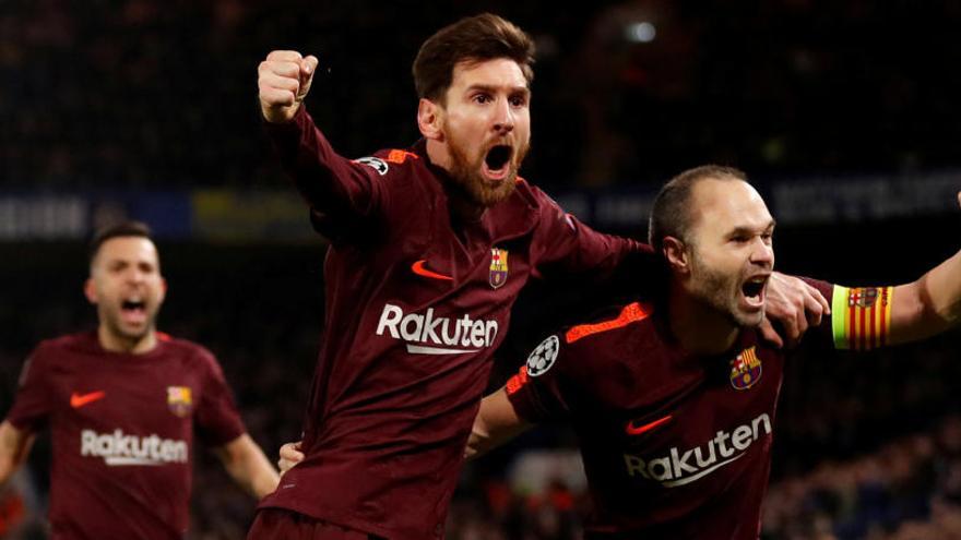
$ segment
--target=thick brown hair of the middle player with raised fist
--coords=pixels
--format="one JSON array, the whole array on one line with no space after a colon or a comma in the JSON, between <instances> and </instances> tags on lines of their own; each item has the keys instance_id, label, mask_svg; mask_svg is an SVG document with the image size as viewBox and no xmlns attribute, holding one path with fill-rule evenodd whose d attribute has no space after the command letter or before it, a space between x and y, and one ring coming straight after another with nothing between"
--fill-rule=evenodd
<instances>
[{"instance_id":1,"label":"thick brown hair of the middle player with raised fist","mask_svg":"<svg viewBox=\"0 0 961 540\"><path fill-rule=\"evenodd\" d=\"M497 58L518 62L527 86L534 81L534 40L510 21L483 13L444 26L424 41L414 59L417 97L443 103L458 63Z\"/></svg>"}]
</instances>

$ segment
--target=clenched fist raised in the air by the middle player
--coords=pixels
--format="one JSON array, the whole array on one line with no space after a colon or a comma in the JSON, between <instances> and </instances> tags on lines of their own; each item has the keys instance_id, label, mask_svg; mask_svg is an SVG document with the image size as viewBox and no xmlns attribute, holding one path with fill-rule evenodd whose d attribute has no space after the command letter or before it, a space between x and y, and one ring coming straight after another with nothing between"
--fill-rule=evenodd
<instances>
[{"instance_id":1,"label":"clenched fist raised in the air by the middle player","mask_svg":"<svg viewBox=\"0 0 961 540\"><path fill-rule=\"evenodd\" d=\"M310 92L317 57L296 50L274 50L257 68L260 111L271 123L289 122Z\"/></svg>"}]
</instances>

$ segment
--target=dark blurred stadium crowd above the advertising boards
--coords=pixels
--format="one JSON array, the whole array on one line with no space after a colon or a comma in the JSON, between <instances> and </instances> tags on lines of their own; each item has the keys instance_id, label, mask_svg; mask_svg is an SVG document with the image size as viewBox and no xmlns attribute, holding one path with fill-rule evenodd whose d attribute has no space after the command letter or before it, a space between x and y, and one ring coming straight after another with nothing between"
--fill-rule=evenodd
<instances>
[{"instance_id":1,"label":"dark blurred stadium crowd above the advertising boards","mask_svg":"<svg viewBox=\"0 0 961 540\"><path fill-rule=\"evenodd\" d=\"M256 67L278 47L330 69L309 105L345 155L410 144L417 47L482 10L537 39L525 172L541 184L660 182L705 161L754 175L957 165L952 1L8 0L2 183L280 181L252 105Z\"/></svg>"}]
</instances>

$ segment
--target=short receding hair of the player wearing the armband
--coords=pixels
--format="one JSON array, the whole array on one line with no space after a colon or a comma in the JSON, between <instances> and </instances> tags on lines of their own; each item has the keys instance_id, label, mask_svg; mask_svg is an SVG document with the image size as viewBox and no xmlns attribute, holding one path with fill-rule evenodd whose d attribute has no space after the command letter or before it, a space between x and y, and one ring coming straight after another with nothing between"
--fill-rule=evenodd
<instances>
[{"instance_id":1,"label":"short receding hair of the player wearing the armband","mask_svg":"<svg viewBox=\"0 0 961 540\"><path fill-rule=\"evenodd\" d=\"M740 180L747 182L747 175L734 167L702 165L688 169L672 178L654 197L651 218L648 223L648 243L657 254L663 253L664 239L675 237L688 242L691 226L690 197L695 185L702 180Z\"/></svg>"}]
</instances>

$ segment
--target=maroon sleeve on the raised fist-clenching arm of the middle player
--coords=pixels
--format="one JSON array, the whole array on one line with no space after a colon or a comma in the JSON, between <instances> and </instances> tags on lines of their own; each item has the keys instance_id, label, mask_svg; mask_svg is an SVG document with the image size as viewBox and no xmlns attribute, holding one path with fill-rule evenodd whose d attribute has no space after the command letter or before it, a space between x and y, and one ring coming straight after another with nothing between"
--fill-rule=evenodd
<instances>
[{"instance_id":1,"label":"maroon sleeve on the raised fist-clenching arm of the middle player","mask_svg":"<svg viewBox=\"0 0 961 540\"><path fill-rule=\"evenodd\" d=\"M305 106L290 122L265 122L264 130L287 175L307 200L311 221L319 230L373 219L385 206L387 163L376 157L352 160L334 152Z\"/></svg>"}]
</instances>

